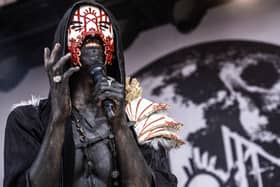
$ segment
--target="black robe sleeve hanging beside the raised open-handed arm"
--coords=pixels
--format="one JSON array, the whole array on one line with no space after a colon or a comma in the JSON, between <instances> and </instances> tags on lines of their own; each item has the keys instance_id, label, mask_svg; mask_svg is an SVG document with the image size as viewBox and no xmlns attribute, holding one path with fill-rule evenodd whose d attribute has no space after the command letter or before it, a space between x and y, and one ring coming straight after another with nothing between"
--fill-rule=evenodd
<instances>
[{"instance_id":1,"label":"black robe sleeve hanging beside the raised open-handed arm","mask_svg":"<svg viewBox=\"0 0 280 187\"><path fill-rule=\"evenodd\" d=\"M27 171L40 149L38 120L19 108L7 119L4 145L4 187L27 186ZM32 113L32 110L28 112ZM25 112L26 113L26 112Z\"/></svg>"}]
</instances>

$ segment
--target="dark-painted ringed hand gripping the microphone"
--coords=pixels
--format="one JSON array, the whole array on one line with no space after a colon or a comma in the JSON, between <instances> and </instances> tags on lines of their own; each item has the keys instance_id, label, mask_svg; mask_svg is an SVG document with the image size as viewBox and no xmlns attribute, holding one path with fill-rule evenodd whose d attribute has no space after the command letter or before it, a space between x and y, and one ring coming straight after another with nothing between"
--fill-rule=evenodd
<instances>
[{"instance_id":1,"label":"dark-painted ringed hand gripping the microphone","mask_svg":"<svg viewBox=\"0 0 280 187\"><path fill-rule=\"evenodd\" d=\"M95 85L93 96L99 107L106 99L113 101L113 111L115 118L121 118L124 115L124 86L111 77L103 79Z\"/></svg>"}]
</instances>

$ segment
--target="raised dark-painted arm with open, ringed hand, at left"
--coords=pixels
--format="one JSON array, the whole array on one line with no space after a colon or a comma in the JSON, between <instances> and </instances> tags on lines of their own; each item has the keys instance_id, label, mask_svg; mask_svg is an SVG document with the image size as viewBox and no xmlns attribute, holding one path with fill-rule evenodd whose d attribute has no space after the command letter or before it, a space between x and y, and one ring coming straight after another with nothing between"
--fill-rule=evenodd
<instances>
[{"instance_id":1,"label":"raised dark-painted arm with open, ringed hand, at left","mask_svg":"<svg viewBox=\"0 0 280 187\"><path fill-rule=\"evenodd\" d=\"M29 170L29 183L32 187L59 186L65 124L71 114L68 82L70 76L79 70L72 67L63 71L70 55L67 54L56 62L60 48L60 44L56 44L52 52L46 48L44 53L45 68L50 82L51 115L39 154ZM53 79L56 75L61 75L58 82Z\"/></svg>"}]
</instances>

